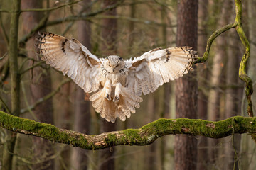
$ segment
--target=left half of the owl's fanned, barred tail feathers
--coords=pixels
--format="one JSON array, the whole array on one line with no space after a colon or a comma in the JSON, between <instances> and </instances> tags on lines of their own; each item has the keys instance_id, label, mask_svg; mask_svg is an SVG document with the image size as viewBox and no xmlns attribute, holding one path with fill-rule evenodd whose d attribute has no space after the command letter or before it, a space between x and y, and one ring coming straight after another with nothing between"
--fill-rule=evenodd
<instances>
[{"instance_id":1,"label":"left half of the owl's fanned, barred tail feathers","mask_svg":"<svg viewBox=\"0 0 256 170\"><path fill-rule=\"evenodd\" d=\"M117 114L115 113L114 102L105 98L105 89L101 89L96 94L90 96L89 99L92 101L95 111L100 113L102 118L105 118L108 122L115 122Z\"/></svg>"}]
</instances>

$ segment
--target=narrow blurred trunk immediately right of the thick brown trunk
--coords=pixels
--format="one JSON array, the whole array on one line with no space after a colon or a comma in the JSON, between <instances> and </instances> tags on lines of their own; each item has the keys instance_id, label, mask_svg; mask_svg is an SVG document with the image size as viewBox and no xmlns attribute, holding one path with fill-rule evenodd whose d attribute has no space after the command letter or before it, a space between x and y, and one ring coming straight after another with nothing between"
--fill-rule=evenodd
<instances>
[{"instance_id":1,"label":"narrow blurred trunk immediately right of the thick brown trunk","mask_svg":"<svg viewBox=\"0 0 256 170\"><path fill-rule=\"evenodd\" d=\"M207 19L208 19L208 0L198 1L198 26L201 32L198 33L198 55L203 56L207 42ZM208 81L208 71L206 63L198 64L198 118L207 120L207 96L206 86ZM198 170L207 169L207 138L198 137Z\"/></svg>"}]
</instances>

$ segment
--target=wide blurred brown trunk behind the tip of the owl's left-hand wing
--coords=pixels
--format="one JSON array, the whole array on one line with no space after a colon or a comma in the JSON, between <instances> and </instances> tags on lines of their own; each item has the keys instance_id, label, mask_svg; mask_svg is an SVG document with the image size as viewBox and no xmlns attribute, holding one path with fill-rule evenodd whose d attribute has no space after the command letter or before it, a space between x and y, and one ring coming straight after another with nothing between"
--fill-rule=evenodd
<instances>
[{"instance_id":1,"label":"wide blurred brown trunk behind the tip of the owl's left-hand wing","mask_svg":"<svg viewBox=\"0 0 256 170\"><path fill-rule=\"evenodd\" d=\"M42 8L42 1L23 0L21 5L22 8ZM23 13L24 33L29 33L31 29L38 24L42 14L43 13L39 12ZM26 43L26 50L28 51L28 57L38 60L39 57L36 55L34 47L35 43L35 38L28 40ZM33 66L33 64L33 61L31 61L30 66ZM50 70L44 68L45 67L35 67L31 70L31 103L34 103L39 98L42 98L51 92ZM38 121L53 124L52 99L48 99L36 106L33 113L36 115ZM33 137L33 148L33 159L36 163L33 165L33 169L53 169L54 160L48 159L54 154L53 144L39 137Z\"/></svg>"}]
</instances>

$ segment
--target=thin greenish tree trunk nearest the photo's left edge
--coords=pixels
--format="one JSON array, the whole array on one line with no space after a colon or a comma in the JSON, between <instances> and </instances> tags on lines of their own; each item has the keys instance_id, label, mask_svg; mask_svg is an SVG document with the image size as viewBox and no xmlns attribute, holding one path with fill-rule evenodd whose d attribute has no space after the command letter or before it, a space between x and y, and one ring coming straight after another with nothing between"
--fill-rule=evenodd
<instances>
[{"instance_id":1,"label":"thin greenish tree trunk nearest the photo's left edge","mask_svg":"<svg viewBox=\"0 0 256 170\"><path fill-rule=\"evenodd\" d=\"M9 67L11 73L11 114L20 115L20 74L18 72L18 20L21 10L21 0L13 1L11 13L11 28L9 32ZM9 133L10 139L4 144L2 169L12 169L14 147L17 134Z\"/></svg>"}]
</instances>

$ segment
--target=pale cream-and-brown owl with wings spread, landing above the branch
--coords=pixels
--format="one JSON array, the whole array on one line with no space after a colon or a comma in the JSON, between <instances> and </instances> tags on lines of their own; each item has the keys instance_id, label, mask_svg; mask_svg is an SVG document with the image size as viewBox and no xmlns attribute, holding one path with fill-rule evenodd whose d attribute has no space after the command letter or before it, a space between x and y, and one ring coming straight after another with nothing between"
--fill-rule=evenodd
<instances>
[{"instance_id":1,"label":"pale cream-and-brown owl with wings spread, landing above the branch","mask_svg":"<svg viewBox=\"0 0 256 170\"><path fill-rule=\"evenodd\" d=\"M170 80L178 79L197 60L191 47L169 47L145 52L124 60L117 55L98 58L78 40L53 33L38 33L41 60L70 77L90 96L92 106L102 118L114 123L136 112L142 94L155 91Z\"/></svg>"}]
</instances>

